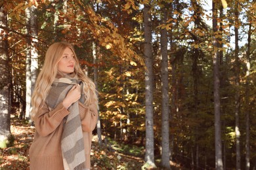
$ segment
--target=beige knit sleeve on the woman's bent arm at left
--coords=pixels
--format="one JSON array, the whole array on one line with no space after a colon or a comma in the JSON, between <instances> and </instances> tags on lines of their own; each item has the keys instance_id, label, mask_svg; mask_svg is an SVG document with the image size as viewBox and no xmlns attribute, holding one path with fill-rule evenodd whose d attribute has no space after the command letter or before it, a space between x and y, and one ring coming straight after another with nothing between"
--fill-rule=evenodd
<instances>
[{"instance_id":1,"label":"beige knit sleeve on the woman's bent arm at left","mask_svg":"<svg viewBox=\"0 0 256 170\"><path fill-rule=\"evenodd\" d=\"M53 110L50 110L46 103L43 103L43 106L35 114L35 129L39 135L45 137L52 133L69 113L62 103Z\"/></svg>"}]
</instances>

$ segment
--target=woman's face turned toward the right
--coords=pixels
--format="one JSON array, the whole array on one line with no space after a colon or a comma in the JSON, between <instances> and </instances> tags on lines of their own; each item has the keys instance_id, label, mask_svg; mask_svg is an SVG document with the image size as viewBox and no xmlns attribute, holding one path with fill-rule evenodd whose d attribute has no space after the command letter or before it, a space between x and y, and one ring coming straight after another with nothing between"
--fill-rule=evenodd
<instances>
[{"instance_id":1,"label":"woman's face turned toward the right","mask_svg":"<svg viewBox=\"0 0 256 170\"><path fill-rule=\"evenodd\" d=\"M75 55L70 48L66 48L60 61L58 61L58 71L64 75L73 73L75 70Z\"/></svg>"}]
</instances>

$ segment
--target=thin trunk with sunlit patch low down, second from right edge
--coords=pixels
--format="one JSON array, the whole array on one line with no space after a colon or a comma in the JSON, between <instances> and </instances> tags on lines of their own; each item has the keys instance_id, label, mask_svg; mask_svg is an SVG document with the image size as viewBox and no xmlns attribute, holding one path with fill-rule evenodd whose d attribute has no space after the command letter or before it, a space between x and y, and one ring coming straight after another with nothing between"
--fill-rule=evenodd
<instances>
[{"instance_id":1,"label":"thin trunk with sunlit patch low down, second from right edge","mask_svg":"<svg viewBox=\"0 0 256 170\"><path fill-rule=\"evenodd\" d=\"M235 1L235 25L238 25L238 2ZM235 32L235 84L236 84L236 94L235 94L235 117L236 117L236 170L241 169L241 154L240 154L240 63L238 58L238 26L234 27Z\"/></svg>"}]
</instances>

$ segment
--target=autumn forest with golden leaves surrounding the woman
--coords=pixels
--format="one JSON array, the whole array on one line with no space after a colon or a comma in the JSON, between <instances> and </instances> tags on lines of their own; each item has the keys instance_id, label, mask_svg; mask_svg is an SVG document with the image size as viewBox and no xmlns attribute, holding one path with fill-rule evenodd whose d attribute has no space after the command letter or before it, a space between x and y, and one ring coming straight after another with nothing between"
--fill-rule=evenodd
<instances>
[{"instance_id":1,"label":"autumn forest with golden leaves surrounding the woman","mask_svg":"<svg viewBox=\"0 0 256 170\"><path fill-rule=\"evenodd\" d=\"M58 41L96 85L93 169L256 169L255 26L253 0L0 0L0 169L28 169Z\"/></svg>"}]
</instances>

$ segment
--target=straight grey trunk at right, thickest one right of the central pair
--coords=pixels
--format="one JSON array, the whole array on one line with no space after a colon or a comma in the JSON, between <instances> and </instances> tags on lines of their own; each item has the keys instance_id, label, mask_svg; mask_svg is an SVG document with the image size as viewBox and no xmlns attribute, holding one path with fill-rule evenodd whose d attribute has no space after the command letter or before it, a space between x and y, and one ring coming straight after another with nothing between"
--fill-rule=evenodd
<instances>
[{"instance_id":1,"label":"straight grey trunk at right, thickest one right of the central pair","mask_svg":"<svg viewBox=\"0 0 256 170\"><path fill-rule=\"evenodd\" d=\"M219 95L219 49L217 41L217 9L213 0L213 82L214 82L214 117L215 117L215 168L223 169L221 144L221 101Z\"/></svg>"}]
</instances>

